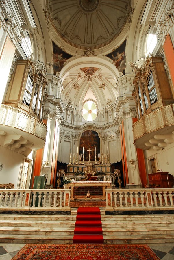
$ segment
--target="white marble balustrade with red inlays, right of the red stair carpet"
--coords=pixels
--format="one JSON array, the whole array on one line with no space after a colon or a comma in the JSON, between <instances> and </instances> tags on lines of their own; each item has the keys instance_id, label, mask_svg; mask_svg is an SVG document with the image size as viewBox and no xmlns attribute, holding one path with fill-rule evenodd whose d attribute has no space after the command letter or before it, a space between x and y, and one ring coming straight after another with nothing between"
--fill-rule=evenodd
<instances>
[{"instance_id":1,"label":"white marble balustrade with red inlays, right of the red stair carpet","mask_svg":"<svg viewBox=\"0 0 174 260\"><path fill-rule=\"evenodd\" d=\"M174 209L174 188L105 189L106 211Z\"/></svg>"}]
</instances>

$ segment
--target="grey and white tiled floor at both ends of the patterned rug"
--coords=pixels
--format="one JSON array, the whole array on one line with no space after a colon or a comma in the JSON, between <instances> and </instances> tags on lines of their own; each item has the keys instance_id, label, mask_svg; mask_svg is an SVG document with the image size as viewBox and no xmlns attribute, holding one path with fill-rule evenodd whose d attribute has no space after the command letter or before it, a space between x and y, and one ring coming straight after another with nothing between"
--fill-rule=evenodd
<instances>
[{"instance_id":1,"label":"grey and white tiled floor at both ends of the patterned rug","mask_svg":"<svg viewBox=\"0 0 174 260\"><path fill-rule=\"evenodd\" d=\"M25 244L0 243L0 260L10 260ZM153 252L162 260L174 259L174 243L148 244Z\"/></svg>"}]
</instances>

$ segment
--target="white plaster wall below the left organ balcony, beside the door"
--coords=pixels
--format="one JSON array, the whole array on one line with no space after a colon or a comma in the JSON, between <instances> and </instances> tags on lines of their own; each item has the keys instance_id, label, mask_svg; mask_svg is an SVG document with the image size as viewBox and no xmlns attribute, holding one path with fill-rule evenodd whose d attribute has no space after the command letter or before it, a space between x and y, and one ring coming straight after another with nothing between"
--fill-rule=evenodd
<instances>
[{"instance_id":1,"label":"white plaster wall below the left organ balcony, beside the door","mask_svg":"<svg viewBox=\"0 0 174 260\"><path fill-rule=\"evenodd\" d=\"M0 146L0 164L3 164L3 169L0 172L0 183L14 183L14 188L17 189L23 160L24 155Z\"/></svg>"}]
</instances>

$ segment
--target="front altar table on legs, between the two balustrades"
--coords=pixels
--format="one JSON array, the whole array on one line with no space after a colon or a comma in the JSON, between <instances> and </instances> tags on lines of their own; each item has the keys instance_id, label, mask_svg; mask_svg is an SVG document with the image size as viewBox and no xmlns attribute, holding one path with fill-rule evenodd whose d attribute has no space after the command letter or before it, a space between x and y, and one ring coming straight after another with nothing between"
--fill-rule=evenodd
<instances>
[{"instance_id":1,"label":"front altar table on legs, between the two balustrades","mask_svg":"<svg viewBox=\"0 0 174 260\"><path fill-rule=\"evenodd\" d=\"M69 184L67 184L67 189L71 189L71 200L75 200L77 198L75 198L74 195L74 188L75 187L102 187L102 191L103 194L101 196L101 199L106 199L106 192L105 189L109 189L112 188L112 182L111 181L73 181ZM92 197L86 198L86 196L84 196L84 199L92 199Z\"/></svg>"}]
</instances>

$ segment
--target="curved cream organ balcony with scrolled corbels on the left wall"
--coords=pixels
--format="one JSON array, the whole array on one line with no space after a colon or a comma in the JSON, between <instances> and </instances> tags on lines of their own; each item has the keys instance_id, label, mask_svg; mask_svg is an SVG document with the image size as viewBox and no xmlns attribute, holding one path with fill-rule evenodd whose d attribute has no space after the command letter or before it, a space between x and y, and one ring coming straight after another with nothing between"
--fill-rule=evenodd
<instances>
[{"instance_id":1,"label":"curved cream organ balcony with scrolled corbels on the left wall","mask_svg":"<svg viewBox=\"0 0 174 260\"><path fill-rule=\"evenodd\" d=\"M0 144L28 156L45 145L47 126L21 109L2 104L0 107Z\"/></svg>"}]
</instances>

